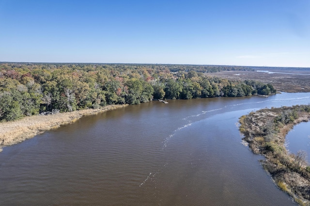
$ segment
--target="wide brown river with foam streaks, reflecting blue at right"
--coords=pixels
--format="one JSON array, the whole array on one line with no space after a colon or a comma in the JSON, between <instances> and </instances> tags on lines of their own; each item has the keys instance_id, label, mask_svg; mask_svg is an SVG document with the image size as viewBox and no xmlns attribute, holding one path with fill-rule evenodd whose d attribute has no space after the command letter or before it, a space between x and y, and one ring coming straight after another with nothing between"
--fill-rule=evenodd
<instances>
[{"instance_id":1,"label":"wide brown river with foam streaks, reflecting blue at right","mask_svg":"<svg viewBox=\"0 0 310 206\"><path fill-rule=\"evenodd\" d=\"M0 205L295 205L242 144L238 118L310 93L157 101L51 130L0 153Z\"/></svg>"}]
</instances>

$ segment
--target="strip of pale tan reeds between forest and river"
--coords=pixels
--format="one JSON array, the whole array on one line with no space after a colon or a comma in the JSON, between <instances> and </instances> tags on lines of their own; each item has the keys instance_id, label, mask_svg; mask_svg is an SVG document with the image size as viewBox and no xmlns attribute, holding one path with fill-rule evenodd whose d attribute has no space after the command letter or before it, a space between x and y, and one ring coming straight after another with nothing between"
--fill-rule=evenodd
<instances>
[{"instance_id":1,"label":"strip of pale tan reeds between forest and river","mask_svg":"<svg viewBox=\"0 0 310 206\"><path fill-rule=\"evenodd\" d=\"M124 106L126 106L126 104L108 105L99 109L85 109L47 116L30 116L16 121L1 122L0 151L2 151L2 147L20 143L39 133L57 128L64 124L70 124L83 116L95 115Z\"/></svg>"}]
</instances>

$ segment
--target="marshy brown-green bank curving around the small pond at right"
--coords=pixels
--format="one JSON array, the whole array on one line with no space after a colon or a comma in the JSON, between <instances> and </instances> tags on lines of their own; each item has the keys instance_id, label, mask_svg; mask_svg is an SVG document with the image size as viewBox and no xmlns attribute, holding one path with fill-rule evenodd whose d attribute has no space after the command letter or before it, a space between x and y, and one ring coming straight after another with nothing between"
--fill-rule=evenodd
<instances>
[{"instance_id":1,"label":"marshy brown-green bank curving around the small pond at right","mask_svg":"<svg viewBox=\"0 0 310 206\"><path fill-rule=\"evenodd\" d=\"M305 153L289 154L284 143L294 125L309 120L309 105L262 109L239 119L243 139L253 153L265 156L264 169L299 205L310 205L310 166Z\"/></svg>"}]
</instances>

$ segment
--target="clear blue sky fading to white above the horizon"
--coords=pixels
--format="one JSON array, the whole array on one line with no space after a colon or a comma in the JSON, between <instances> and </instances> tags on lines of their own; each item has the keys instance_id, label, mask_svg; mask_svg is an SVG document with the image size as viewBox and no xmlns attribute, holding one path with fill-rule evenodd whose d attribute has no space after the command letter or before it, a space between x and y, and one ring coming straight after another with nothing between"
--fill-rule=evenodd
<instances>
[{"instance_id":1,"label":"clear blue sky fading to white above the horizon","mask_svg":"<svg viewBox=\"0 0 310 206\"><path fill-rule=\"evenodd\" d=\"M310 67L310 0L0 0L0 61Z\"/></svg>"}]
</instances>

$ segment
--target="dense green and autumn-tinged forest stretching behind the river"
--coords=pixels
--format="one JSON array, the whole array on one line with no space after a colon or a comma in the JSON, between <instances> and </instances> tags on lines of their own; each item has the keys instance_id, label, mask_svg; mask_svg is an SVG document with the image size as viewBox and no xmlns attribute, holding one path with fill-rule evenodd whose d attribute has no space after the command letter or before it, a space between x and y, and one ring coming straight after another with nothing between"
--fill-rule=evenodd
<instances>
[{"instance_id":1,"label":"dense green and autumn-tinged forest stretching behind the river","mask_svg":"<svg viewBox=\"0 0 310 206\"><path fill-rule=\"evenodd\" d=\"M154 99L268 95L254 80L231 81L207 73L250 67L164 64L0 63L0 121L24 116L139 104Z\"/></svg>"}]
</instances>

